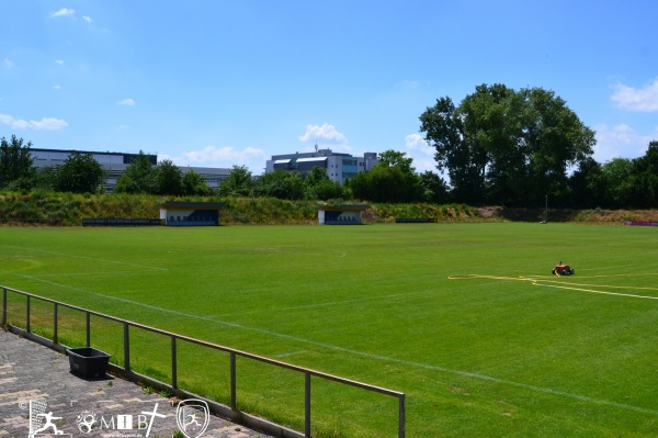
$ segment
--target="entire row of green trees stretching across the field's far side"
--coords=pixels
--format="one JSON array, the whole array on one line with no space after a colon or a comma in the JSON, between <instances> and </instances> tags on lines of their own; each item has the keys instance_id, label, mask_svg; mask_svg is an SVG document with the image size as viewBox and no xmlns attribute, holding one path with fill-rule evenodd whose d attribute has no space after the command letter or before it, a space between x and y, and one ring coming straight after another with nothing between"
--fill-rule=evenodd
<instances>
[{"instance_id":1,"label":"entire row of green trees stretching across the field's far side","mask_svg":"<svg viewBox=\"0 0 658 438\"><path fill-rule=\"evenodd\" d=\"M644 156L594 160L594 132L566 102L542 88L514 90L480 85L458 104L436 100L419 117L419 131L435 150L436 169L417 172L413 160L393 149L378 164L343 184L315 167L304 177L275 170L254 177L234 166L217 189L222 196L273 196L288 200L466 203L470 205L658 206L658 142ZM106 175L91 155L72 153L64 165L36 170L31 143L12 136L0 144L0 189L102 191ZM447 178L445 178L445 177ZM139 153L115 192L207 195L202 176L171 160L152 165Z\"/></svg>"}]
</instances>

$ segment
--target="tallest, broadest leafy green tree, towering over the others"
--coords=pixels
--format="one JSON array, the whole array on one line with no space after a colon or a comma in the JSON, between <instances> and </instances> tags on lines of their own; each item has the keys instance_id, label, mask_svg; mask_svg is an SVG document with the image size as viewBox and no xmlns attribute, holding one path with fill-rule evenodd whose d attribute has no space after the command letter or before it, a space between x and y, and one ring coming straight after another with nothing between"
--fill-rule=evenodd
<instances>
[{"instance_id":1,"label":"tallest, broadest leafy green tree, towering over the others","mask_svg":"<svg viewBox=\"0 0 658 438\"><path fill-rule=\"evenodd\" d=\"M593 153L594 133L541 88L481 85L458 106L439 99L420 122L438 169L447 170L453 196L464 202L567 200L569 171Z\"/></svg>"}]
</instances>

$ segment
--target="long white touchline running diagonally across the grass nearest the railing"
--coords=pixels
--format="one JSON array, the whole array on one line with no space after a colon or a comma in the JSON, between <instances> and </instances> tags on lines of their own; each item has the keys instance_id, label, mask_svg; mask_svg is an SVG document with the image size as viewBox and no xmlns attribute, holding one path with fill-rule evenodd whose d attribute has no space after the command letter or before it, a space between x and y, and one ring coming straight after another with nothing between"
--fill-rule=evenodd
<instances>
[{"instance_id":1,"label":"long white touchline running diagonally across the grass nearest the railing","mask_svg":"<svg viewBox=\"0 0 658 438\"><path fill-rule=\"evenodd\" d=\"M593 403L593 404L603 405L603 406L619 407L621 409L634 411L634 412L638 412L638 413L642 413L642 414L649 414L649 415L658 416L658 411L649 409L649 408L645 408L645 407L638 407L638 406L627 405L627 404L624 404L624 403L611 402L611 401L608 401L608 400L600 400L600 398L588 397L586 395L572 394L572 393L569 393L569 392L554 390L554 389L551 389L551 388L535 386L535 385L531 385L531 384L526 384L526 383L514 382L514 381L511 381L511 380L504 380L504 379L494 378L494 377L490 377L490 375L480 374L480 373L476 373L476 372L452 370L450 368L433 366L433 364L430 364L430 363L415 362L415 361L405 360L405 359L390 358L388 356L382 356L382 355L375 355L375 353L371 353L371 352L352 350L352 349L345 348L345 347L339 347L339 346L334 346L334 345L331 345L331 344L318 342L318 341L315 341L315 340L305 339L305 338L300 338L300 337L297 337L297 336L292 336L292 335L286 335L286 334L276 333L276 332L272 332L272 330L266 330L266 329L263 329L263 328L249 327L249 326L245 326L245 325L237 324L237 323L229 323L229 322L225 322L225 321L217 321L217 319L214 319L214 318L208 317L208 316L192 315L192 314L188 314L188 313L184 313L184 312L172 311L170 308L158 307L158 306L155 306L155 305L145 304L145 303L140 303L140 302L133 301L133 300L122 299L122 297L118 297L118 296L105 295L105 294L102 294L102 293L91 292L91 291L87 291L87 290L79 289L79 288L72 288L72 287L69 287L69 285L66 285L66 284L57 284L57 283L54 283L52 281L43 280L43 279L39 279L39 278L36 278L36 277L32 277L32 276L24 276L24 274L18 274L18 276L25 277L25 278L29 278L29 279L35 280L35 281L41 281L41 282L44 282L46 284L70 289L70 290L75 290L75 291L78 291L78 292L88 293L90 295L103 296L103 297L106 297L109 300L116 300L116 301L121 301L121 302L134 304L134 305L137 305L137 306L143 306L143 307L151 308L151 310L155 310L155 311L158 311L158 312L163 312L163 313L169 313L169 314L177 315L177 316L182 316L182 317L185 317L185 318L205 321L205 322L209 322L209 323L215 323L215 324L218 324L218 325L223 325L223 326L226 326L226 327L238 328L238 329L253 332L253 333L259 333L259 334L263 334L263 335L268 335L268 336L275 336L275 337L279 337L279 338L282 338L282 339L288 339L288 340L293 340L293 341L296 341L296 342L313 345L313 346L316 346L316 347L321 347L321 348L326 348L326 349L333 350L333 351L340 351L340 352L344 352L344 353L349 353L349 355L353 355L353 356L359 356L359 357L362 357L362 358L375 359L375 360L386 361L386 362L390 362L390 363L400 363L400 364L404 364L404 366L407 366L407 367L421 368L421 369L426 369L426 370L432 370L432 371L439 371L439 372L444 372L444 373L449 373L449 374L461 375L461 377L464 377L464 378L484 380L484 381L487 381L487 382L494 382L494 383L499 383L499 384L503 384L503 385L508 385L508 386L521 388L523 390L529 390L529 391L538 392L538 393L543 393L543 394L557 395L557 396L560 396L560 397L577 400L577 401L580 401L580 402Z\"/></svg>"}]
</instances>

